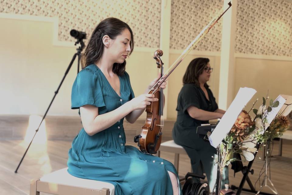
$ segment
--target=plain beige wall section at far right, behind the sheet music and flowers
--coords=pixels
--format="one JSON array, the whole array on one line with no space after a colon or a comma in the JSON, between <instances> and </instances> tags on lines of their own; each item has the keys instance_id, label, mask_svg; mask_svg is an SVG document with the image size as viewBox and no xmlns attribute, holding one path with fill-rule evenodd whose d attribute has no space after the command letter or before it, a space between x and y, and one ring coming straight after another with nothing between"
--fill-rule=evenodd
<instances>
[{"instance_id":1,"label":"plain beige wall section at far right, behind the sheet music and flowers","mask_svg":"<svg viewBox=\"0 0 292 195\"><path fill-rule=\"evenodd\" d=\"M257 93L246 105L246 110L259 98L255 108L262 104L262 97L275 100L280 94L292 95L292 61L237 58L235 66L235 94L240 87L254 88Z\"/></svg>"}]
</instances>

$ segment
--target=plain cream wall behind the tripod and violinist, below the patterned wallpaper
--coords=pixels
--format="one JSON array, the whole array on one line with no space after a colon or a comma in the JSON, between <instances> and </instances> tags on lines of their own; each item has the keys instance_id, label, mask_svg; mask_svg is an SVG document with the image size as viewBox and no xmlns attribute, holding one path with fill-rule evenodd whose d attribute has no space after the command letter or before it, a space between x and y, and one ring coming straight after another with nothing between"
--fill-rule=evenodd
<instances>
[{"instance_id":1,"label":"plain cream wall behind the tripod and violinist, below the patterned wallpaper","mask_svg":"<svg viewBox=\"0 0 292 195\"><path fill-rule=\"evenodd\" d=\"M54 46L51 22L0 19L0 26L7 29L0 31L0 114L43 115L76 52L74 43L72 47ZM157 76L152 52L134 51L126 70L134 93L143 93ZM48 115L78 115L70 109L76 74L77 59Z\"/></svg>"}]
</instances>

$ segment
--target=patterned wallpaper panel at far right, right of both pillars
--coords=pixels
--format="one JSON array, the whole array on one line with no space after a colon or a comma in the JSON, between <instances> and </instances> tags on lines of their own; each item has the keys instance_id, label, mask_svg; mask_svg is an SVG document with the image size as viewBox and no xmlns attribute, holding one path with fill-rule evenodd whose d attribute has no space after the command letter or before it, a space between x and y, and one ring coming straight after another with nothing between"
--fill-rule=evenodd
<instances>
[{"instance_id":1,"label":"patterned wallpaper panel at far right, right of both pillars","mask_svg":"<svg viewBox=\"0 0 292 195\"><path fill-rule=\"evenodd\" d=\"M292 2L240 0L237 7L238 53L292 56Z\"/></svg>"}]
</instances>

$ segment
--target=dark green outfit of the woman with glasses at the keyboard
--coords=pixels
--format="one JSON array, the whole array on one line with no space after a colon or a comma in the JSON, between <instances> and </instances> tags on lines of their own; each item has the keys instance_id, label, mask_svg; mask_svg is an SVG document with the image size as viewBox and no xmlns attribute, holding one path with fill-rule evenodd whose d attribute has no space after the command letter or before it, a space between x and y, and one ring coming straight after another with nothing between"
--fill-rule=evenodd
<instances>
[{"instance_id":1,"label":"dark green outfit of the woman with glasses at the keyboard","mask_svg":"<svg viewBox=\"0 0 292 195\"><path fill-rule=\"evenodd\" d=\"M216 169L214 166L213 158L216 154L216 149L210 145L209 142L205 142L196 133L197 126L201 124L207 124L208 121L201 121L193 119L187 112L187 108L195 106L199 109L214 112L218 109L218 105L212 94L212 91L206 88L209 100L206 98L203 90L193 83L183 85L179 92L177 100L177 119L172 129L172 137L176 144L181 145L187 152L194 173L202 174L206 173L209 185L212 186L216 180ZM228 181L222 182L222 186ZM211 189L213 190L213 189Z\"/></svg>"}]
</instances>

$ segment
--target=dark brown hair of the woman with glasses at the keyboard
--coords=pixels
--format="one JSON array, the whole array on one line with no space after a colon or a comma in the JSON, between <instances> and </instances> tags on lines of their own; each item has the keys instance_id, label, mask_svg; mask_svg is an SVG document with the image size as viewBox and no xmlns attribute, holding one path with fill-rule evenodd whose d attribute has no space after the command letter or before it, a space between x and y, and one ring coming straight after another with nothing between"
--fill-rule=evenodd
<instances>
[{"instance_id":1,"label":"dark brown hair of the woman with glasses at the keyboard","mask_svg":"<svg viewBox=\"0 0 292 195\"><path fill-rule=\"evenodd\" d=\"M208 58L195 58L186 68L186 73L182 78L182 83L194 83L196 86L200 87L199 76L203 73L204 68L210 62ZM207 83L205 83L204 87L209 87Z\"/></svg>"}]
</instances>

